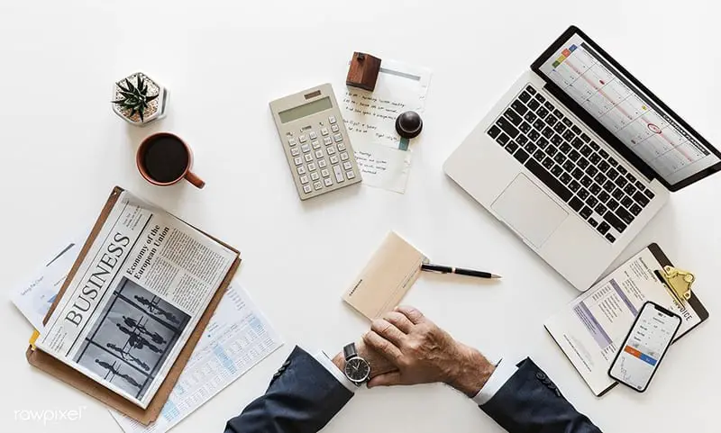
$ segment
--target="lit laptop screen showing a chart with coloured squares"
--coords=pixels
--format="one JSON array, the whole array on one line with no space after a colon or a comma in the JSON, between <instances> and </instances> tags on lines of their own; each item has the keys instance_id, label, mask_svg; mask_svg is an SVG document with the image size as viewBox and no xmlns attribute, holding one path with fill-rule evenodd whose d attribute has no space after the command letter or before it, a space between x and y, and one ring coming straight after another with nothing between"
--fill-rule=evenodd
<instances>
[{"instance_id":1,"label":"lit laptop screen showing a chart with coloured squares","mask_svg":"<svg viewBox=\"0 0 721 433\"><path fill-rule=\"evenodd\" d=\"M670 185L721 160L580 35L540 69Z\"/></svg>"}]
</instances>

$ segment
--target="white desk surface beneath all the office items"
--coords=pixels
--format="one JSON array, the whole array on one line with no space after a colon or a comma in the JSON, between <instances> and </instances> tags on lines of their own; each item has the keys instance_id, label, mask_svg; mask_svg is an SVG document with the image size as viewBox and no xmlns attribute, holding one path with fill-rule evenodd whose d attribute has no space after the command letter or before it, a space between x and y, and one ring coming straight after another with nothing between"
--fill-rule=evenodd
<instances>
[{"instance_id":1,"label":"white desk surface beneath all the office items","mask_svg":"<svg viewBox=\"0 0 721 433\"><path fill-rule=\"evenodd\" d=\"M504 275L492 286L423 275L406 302L480 349L532 356L604 431L717 431L721 176L674 194L619 257L658 241L697 273L711 320L673 347L649 392L617 388L597 399L542 326L578 293L442 170L570 23L721 144L717 16L710 2L658 0L5 2L0 284L5 291L22 284L52 248L95 221L113 185L240 248L240 281L287 343L174 430L221 432L295 344L333 352L367 328L341 294L386 232L397 230L438 262ZM301 203L268 103L341 81L353 50L434 72L406 194L361 185ZM109 104L114 80L136 70L170 89L168 118L145 129L126 125ZM142 180L134 152L155 131L187 139L205 190ZM11 302L2 302L0 318L0 430L120 431L101 404L25 362L31 327ZM77 421L15 419L16 410L78 408ZM460 394L430 385L361 391L324 431L501 429Z\"/></svg>"}]
</instances>

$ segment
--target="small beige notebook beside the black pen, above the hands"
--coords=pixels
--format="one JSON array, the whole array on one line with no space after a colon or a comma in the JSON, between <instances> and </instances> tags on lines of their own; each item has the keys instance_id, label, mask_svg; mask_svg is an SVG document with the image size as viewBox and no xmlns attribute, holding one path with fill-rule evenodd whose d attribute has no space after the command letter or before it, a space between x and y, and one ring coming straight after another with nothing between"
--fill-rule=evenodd
<instances>
[{"instance_id":1,"label":"small beige notebook beside the black pen, above the hands","mask_svg":"<svg viewBox=\"0 0 721 433\"><path fill-rule=\"evenodd\" d=\"M368 319L376 319L397 306L427 262L423 253L391 231L343 301Z\"/></svg>"}]
</instances>

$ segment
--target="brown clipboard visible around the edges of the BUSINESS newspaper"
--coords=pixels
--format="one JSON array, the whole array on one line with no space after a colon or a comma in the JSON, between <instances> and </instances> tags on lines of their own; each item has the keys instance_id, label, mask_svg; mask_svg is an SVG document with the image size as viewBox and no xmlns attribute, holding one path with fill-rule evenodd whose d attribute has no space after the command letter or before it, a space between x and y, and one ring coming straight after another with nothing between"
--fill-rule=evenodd
<instances>
[{"instance_id":1,"label":"brown clipboard visible around the edges of the BUSINESS newspaper","mask_svg":"<svg viewBox=\"0 0 721 433\"><path fill-rule=\"evenodd\" d=\"M59 300L65 294L65 291L68 289L68 285L71 283L72 279L75 277L75 274L78 272L80 264L82 263L83 259L85 259L89 249L92 247L93 242L95 241L98 233L102 229L103 224L107 219L107 216L113 209L113 206L117 202L121 193L123 193L123 188L115 186L107 202L105 202L103 211L100 212L100 216L97 218L96 224L95 226L93 226L93 230L87 237L85 245L80 250L80 253L78 254L78 259L75 261L72 269L70 269L70 273L68 274L65 283L60 288L55 302L53 302L50 306L50 311L48 311L47 315L45 316L43 324L47 323L47 321L50 319L50 316L52 315L52 312L55 311L55 308L58 306ZM200 317L200 320L197 322L196 329L194 329L193 332L190 334L190 337L187 339L185 346L178 354L178 359L176 359L175 363L172 365L172 367L170 367L168 375L166 376L163 383L160 385L160 388L155 393L155 396L153 396L151 402L148 404L148 407L146 409L142 409L140 406L137 406L131 401L126 400L120 394L110 391L108 388L105 388L105 386L97 383L93 379L87 377L85 374L82 374L78 372L78 370L70 367L69 365L62 363L61 361L59 361L59 359L56 359L55 357L50 356L42 352L41 350L35 349L32 343L25 351L25 357L27 358L28 362L31 365L41 369L45 373L55 376L60 381L68 383L69 385L77 388L78 390L87 393L91 397L96 398L96 400L102 401L103 403L105 403L105 405L113 408L114 410L118 410L124 415L127 415L128 417L135 419L146 426L155 419L158 419L158 417L160 416L160 410L162 410L165 402L168 401L170 392L172 392L175 384L178 382L178 377L185 368L187 360L193 354L193 350L196 348L198 340L203 336L203 329L205 329L208 321L213 316L215 309L218 306L218 303L220 303L220 301L223 299L225 290L228 288L228 285L233 279L233 275L235 275L235 271L237 271L238 266L240 266L241 264L240 252L237 249L231 247L230 245L222 242L219 239L215 239L214 237L205 233L205 231L201 230L201 232L205 234L205 236L208 236L210 239L214 239L225 248L233 250L237 254L237 256L235 258L235 261L233 262L233 265L231 265L230 269L228 270L228 274L225 275L223 282L220 284L220 287L217 289L213 298L208 303L205 312ZM33 338L36 337L37 331L33 333ZM32 339L31 341L34 341L34 339Z\"/></svg>"}]
</instances>

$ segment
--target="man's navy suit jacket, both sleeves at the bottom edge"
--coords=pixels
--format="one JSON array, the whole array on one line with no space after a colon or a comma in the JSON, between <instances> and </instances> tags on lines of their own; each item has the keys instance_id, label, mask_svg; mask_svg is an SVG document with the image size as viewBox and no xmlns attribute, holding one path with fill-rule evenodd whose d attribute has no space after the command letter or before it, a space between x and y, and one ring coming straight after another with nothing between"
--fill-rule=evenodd
<instances>
[{"instance_id":1,"label":"man's navy suit jacket, both sleeves at the bottom edge","mask_svg":"<svg viewBox=\"0 0 721 433\"><path fill-rule=\"evenodd\" d=\"M313 356L296 347L265 395L229 420L225 433L315 433L352 396ZM510 433L601 431L530 359L518 364L516 374L480 409Z\"/></svg>"}]
</instances>

